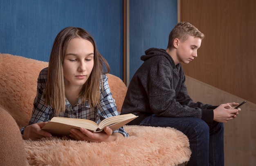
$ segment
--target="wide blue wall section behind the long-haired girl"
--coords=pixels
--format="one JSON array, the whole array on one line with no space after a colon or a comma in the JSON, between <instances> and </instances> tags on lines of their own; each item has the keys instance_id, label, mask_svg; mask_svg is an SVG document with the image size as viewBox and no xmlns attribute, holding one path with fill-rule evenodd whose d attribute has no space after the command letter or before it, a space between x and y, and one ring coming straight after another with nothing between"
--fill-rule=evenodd
<instances>
[{"instance_id":1,"label":"wide blue wall section behind the long-haired girl","mask_svg":"<svg viewBox=\"0 0 256 166\"><path fill-rule=\"evenodd\" d=\"M0 20L0 53L48 62L58 32L81 27L123 78L122 0L1 0Z\"/></svg>"}]
</instances>

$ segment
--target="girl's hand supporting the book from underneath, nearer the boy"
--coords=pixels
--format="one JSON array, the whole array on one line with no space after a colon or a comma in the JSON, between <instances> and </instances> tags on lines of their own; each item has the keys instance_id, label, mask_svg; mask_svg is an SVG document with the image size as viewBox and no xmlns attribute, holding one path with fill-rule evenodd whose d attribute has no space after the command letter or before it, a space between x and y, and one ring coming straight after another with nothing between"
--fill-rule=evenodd
<instances>
[{"instance_id":1,"label":"girl's hand supporting the book from underneath, nearer the boy","mask_svg":"<svg viewBox=\"0 0 256 166\"><path fill-rule=\"evenodd\" d=\"M105 127L104 131L99 133L92 133L85 128L80 128L80 130L71 128L70 137L81 140L81 141L90 141L90 142L108 142L113 141L117 137L123 137L121 133L113 133L112 129Z\"/></svg>"}]
</instances>

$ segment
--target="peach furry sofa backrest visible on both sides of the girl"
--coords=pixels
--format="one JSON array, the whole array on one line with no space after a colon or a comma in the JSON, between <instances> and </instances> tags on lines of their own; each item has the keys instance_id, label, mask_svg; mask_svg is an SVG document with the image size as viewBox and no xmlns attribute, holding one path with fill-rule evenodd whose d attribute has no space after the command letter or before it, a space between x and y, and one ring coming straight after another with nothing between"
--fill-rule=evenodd
<instances>
[{"instance_id":1,"label":"peach furry sofa backrest visible on both sides of the girl","mask_svg":"<svg viewBox=\"0 0 256 166\"><path fill-rule=\"evenodd\" d=\"M31 117L36 97L37 78L48 62L17 55L0 54L0 105L16 120L21 128ZM121 111L127 87L117 76L107 74L110 91Z\"/></svg>"}]
</instances>

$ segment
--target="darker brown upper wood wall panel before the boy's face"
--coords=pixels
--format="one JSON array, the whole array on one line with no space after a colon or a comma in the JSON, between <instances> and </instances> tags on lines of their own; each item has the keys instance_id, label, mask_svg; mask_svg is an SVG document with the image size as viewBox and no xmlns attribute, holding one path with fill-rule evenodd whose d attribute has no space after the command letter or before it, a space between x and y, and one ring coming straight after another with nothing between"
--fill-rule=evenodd
<instances>
[{"instance_id":1,"label":"darker brown upper wood wall panel before the boy's face","mask_svg":"<svg viewBox=\"0 0 256 166\"><path fill-rule=\"evenodd\" d=\"M181 0L181 21L205 38L186 75L256 103L256 1Z\"/></svg>"}]
</instances>

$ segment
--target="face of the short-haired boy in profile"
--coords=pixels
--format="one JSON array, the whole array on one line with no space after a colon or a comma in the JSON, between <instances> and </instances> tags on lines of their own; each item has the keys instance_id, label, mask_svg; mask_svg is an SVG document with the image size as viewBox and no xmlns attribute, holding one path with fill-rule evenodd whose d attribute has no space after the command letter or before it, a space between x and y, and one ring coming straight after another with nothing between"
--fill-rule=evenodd
<instances>
[{"instance_id":1,"label":"face of the short-haired boy in profile","mask_svg":"<svg viewBox=\"0 0 256 166\"><path fill-rule=\"evenodd\" d=\"M175 40L177 40L176 48L178 63L183 62L188 64L198 56L197 51L201 46L202 39L189 36L189 38L184 42L180 42L178 39Z\"/></svg>"}]
</instances>

